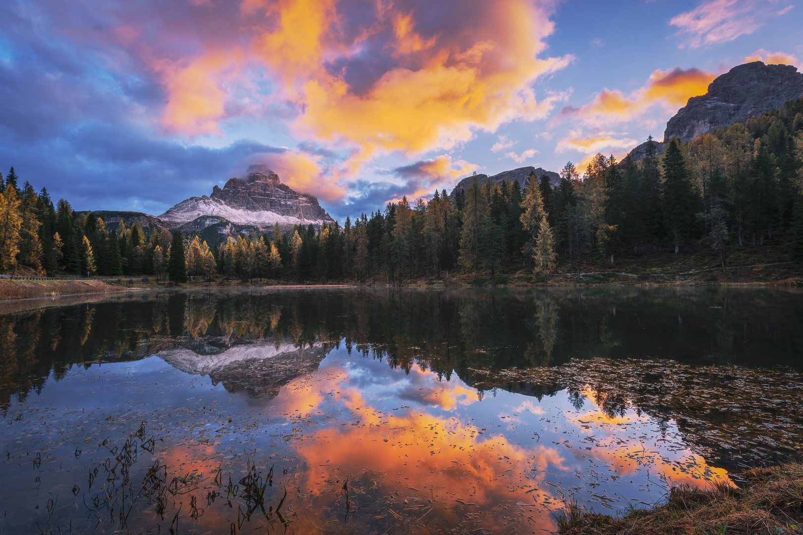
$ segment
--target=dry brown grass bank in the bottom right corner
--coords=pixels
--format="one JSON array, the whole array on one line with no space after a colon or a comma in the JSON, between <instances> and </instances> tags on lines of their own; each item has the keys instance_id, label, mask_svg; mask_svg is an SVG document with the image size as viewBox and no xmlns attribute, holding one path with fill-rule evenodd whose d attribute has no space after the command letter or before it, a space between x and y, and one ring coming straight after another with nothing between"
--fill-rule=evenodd
<instances>
[{"instance_id":1,"label":"dry brown grass bank in the bottom right corner","mask_svg":"<svg viewBox=\"0 0 803 535\"><path fill-rule=\"evenodd\" d=\"M803 533L803 464L753 468L742 477L746 481L742 488L727 483L707 490L675 487L666 504L630 509L619 517L588 512L572 504L557 518L558 533Z\"/></svg>"}]
</instances>

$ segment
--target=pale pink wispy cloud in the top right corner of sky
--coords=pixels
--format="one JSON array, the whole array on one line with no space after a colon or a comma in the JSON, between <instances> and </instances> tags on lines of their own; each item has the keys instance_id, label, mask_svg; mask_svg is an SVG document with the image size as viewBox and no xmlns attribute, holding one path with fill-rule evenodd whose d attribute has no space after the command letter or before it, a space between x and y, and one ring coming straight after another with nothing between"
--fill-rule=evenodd
<instances>
[{"instance_id":1,"label":"pale pink wispy cloud in the top right corner of sky","mask_svg":"<svg viewBox=\"0 0 803 535\"><path fill-rule=\"evenodd\" d=\"M683 47L699 48L728 43L740 35L752 34L768 18L777 17L793 6L779 0L710 0L681 13L669 23L686 36Z\"/></svg>"}]
</instances>

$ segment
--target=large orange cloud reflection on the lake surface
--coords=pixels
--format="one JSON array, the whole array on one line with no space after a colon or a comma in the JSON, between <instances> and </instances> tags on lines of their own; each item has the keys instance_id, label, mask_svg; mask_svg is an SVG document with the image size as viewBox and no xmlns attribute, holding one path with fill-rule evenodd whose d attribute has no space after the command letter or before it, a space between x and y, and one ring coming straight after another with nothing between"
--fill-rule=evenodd
<instances>
[{"instance_id":1,"label":"large orange cloud reflection on the lake surface","mask_svg":"<svg viewBox=\"0 0 803 535\"><path fill-rule=\"evenodd\" d=\"M475 391L434 381L432 372L414 367L410 373L414 384L419 379L434 383L427 384L428 392L417 397L418 402L446 411L454 408L454 403L467 403L469 397L471 403L476 402ZM325 513L338 500L344 480L352 487L364 486L366 491L376 489L366 496L396 492L413 504L432 504L437 509L434 517L461 517L479 511L477 525L498 525L501 516L509 514L495 507L500 503L530 505L522 508L523 513L540 528L554 528L549 512L562 503L549 501L554 496L544 484L544 476L548 470L568 470L556 448L513 444L501 434L483 432L457 418L410 407L383 412L371 407L361 391L343 379L342 371L327 370L325 378L294 381L275 399L276 411L310 407L315 413L326 407L310 400L308 393L326 391L343 409L344 421L338 421L339 413L328 411L336 416L328 424L304 428L303 440L288 444L300 468L291 474L292 486L304 489L305 494L307 513L297 522L304 528L306 523L310 525L302 532L316 531L312 523L320 522L318 512ZM463 397L465 401L459 399ZM536 467L539 471L532 472Z\"/></svg>"}]
</instances>

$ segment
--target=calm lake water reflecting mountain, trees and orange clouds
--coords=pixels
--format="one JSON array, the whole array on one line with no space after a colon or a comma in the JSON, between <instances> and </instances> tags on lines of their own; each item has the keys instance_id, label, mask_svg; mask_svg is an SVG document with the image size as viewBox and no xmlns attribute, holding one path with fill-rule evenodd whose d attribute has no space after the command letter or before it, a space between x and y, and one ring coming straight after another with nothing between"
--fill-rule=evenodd
<instances>
[{"instance_id":1,"label":"calm lake water reflecting mountain, trees and orange clouds","mask_svg":"<svg viewBox=\"0 0 803 535\"><path fill-rule=\"evenodd\" d=\"M0 533L544 533L566 501L646 507L796 455L801 355L795 290L213 290L0 315Z\"/></svg>"}]
</instances>

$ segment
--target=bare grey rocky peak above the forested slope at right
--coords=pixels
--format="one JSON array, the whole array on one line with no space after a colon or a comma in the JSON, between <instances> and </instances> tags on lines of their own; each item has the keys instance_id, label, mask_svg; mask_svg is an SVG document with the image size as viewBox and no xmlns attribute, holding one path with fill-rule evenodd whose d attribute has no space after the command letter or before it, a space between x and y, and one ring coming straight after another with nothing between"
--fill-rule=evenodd
<instances>
[{"instance_id":1,"label":"bare grey rocky peak above the forested slope at right","mask_svg":"<svg viewBox=\"0 0 803 535\"><path fill-rule=\"evenodd\" d=\"M691 97L666 123L663 139L691 141L717 128L744 123L801 96L803 74L797 67L744 63L718 76L705 95Z\"/></svg>"}]
</instances>

